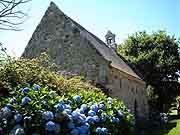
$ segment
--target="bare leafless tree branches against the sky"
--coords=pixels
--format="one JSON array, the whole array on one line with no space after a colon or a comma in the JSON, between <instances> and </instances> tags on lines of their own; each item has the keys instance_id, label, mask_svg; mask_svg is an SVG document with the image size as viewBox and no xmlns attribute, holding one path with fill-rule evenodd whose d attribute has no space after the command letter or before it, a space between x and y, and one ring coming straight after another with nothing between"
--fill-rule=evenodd
<instances>
[{"instance_id":1,"label":"bare leafless tree branches against the sky","mask_svg":"<svg viewBox=\"0 0 180 135\"><path fill-rule=\"evenodd\" d=\"M18 31L19 25L24 22L24 13L19 6L30 0L0 0L0 30Z\"/></svg>"}]
</instances>

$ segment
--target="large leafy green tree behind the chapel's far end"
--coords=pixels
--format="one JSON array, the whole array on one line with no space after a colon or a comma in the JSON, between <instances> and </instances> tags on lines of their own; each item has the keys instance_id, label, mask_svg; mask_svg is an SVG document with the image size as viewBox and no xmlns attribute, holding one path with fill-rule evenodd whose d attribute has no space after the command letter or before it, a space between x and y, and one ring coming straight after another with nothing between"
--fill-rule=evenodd
<instances>
[{"instance_id":1,"label":"large leafy green tree behind the chapel's far end","mask_svg":"<svg viewBox=\"0 0 180 135\"><path fill-rule=\"evenodd\" d=\"M156 107L160 111L180 92L179 46L180 41L165 31L136 32L118 46L118 53L143 75L147 85L154 87L154 94L158 95Z\"/></svg>"}]
</instances>

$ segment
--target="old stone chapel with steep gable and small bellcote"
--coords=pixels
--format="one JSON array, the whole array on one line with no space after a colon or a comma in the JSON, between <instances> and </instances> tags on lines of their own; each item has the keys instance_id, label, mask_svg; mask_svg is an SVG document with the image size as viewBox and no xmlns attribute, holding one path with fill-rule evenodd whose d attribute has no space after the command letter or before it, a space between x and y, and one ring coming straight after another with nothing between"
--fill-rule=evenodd
<instances>
[{"instance_id":1,"label":"old stone chapel with steep gable and small bellcote","mask_svg":"<svg viewBox=\"0 0 180 135\"><path fill-rule=\"evenodd\" d=\"M106 43L51 2L22 57L34 58L46 52L62 70L101 84L131 112L147 117L146 83L116 53L115 34L108 31L105 38Z\"/></svg>"}]
</instances>

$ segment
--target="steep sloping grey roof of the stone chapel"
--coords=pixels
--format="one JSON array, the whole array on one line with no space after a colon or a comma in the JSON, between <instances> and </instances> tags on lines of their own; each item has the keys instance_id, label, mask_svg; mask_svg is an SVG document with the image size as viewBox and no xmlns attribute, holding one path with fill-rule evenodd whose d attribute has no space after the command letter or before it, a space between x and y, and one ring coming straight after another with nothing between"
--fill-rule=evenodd
<instances>
[{"instance_id":1,"label":"steep sloping grey roof of the stone chapel","mask_svg":"<svg viewBox=\"0 0 180 135\"><path fill-rule=\"evenodd\" d=\"M93 47L104 57L107 61L110 62L110 65L116 69L119 69L122 72L125 72L128 75L131 75L139 80L142 80L133 70L132 68L125 62L121 57L111 48L109 48L102 40L100 40L97 36L86 30L80 24L75 22L73 19L65 15L53 2L51 2L50 7L54 10L54 12L58 12L58 14L65 16L71 23L80 31L82 37L86 38Z\"/></svg>"}]
</instances>

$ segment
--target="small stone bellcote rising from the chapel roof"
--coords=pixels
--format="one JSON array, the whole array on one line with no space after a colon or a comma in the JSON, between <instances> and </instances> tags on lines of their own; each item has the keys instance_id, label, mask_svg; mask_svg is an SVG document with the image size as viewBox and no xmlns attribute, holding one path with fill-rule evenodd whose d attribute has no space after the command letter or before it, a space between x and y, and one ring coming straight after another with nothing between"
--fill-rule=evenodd
<instances>
[{"instance_id":1,"label":"small stone bellcote rising from the chapel roof","mask_svg":"<svg viewBox=\"0 0 180 135\"><path fill-rule=\"evenodd\" d=\"M106 38L106 44L109 48L112 48L114 50L117 49L117 44L115 42L116 35L113 34L110 30L108 30L107 34L105 35Z\"/></svg>"}]
</instances>

